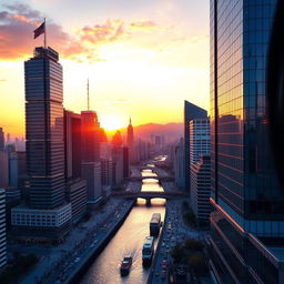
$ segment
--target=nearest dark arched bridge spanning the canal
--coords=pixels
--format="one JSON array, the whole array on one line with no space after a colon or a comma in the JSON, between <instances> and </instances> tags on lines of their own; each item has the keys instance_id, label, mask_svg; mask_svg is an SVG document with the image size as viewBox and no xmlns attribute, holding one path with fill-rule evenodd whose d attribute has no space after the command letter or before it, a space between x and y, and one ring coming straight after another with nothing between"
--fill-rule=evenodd
<instances>
[{"instance_id":1,"label":"nearest dark arched bridge spanning the canal","mask_svg":"<svg viewBox=\"0 0 284 284\"><path fill-rule=\"evenodd\" d=\"M164 191L140 191L140 192L129 192L129 191L118 191L112 192L113 196L124 197L124 199L144 199L150 201L151 199L182 199L189 197L189 193L182 191L172 191L172 192L164 192Z\"/></svg>"}]
</instances>

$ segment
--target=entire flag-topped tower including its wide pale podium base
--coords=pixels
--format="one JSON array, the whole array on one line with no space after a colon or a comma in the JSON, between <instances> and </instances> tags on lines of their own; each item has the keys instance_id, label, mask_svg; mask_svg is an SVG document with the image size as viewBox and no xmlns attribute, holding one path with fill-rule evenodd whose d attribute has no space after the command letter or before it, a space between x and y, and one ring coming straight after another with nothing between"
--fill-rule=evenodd
<instances>
[{"instance_id":1,"label":"entire flag-topped tower including its wide pale podium base","mask_svg":"<svg viewBox=\"0 0 284 284\"><path fill-rule=\"evenodd\" d=\"M62 237L71 204L65 202L63 90L59 54L36 48L24 62L29 207L12 209L12 225L27 236Z\"/></svg>"}]
</instances>

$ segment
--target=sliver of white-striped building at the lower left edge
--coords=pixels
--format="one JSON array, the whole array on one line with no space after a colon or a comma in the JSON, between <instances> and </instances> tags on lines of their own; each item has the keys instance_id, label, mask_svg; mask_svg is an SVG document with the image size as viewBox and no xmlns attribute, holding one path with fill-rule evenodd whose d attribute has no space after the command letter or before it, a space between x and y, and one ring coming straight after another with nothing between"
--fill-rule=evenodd
<instances>
[{"instance_id":1,"label":"sliver of white-striped building at the lower left edge","mask_svg":"<svg viewBox=\"0 0 284 284\"><path fill-rule=\"evenodd\" d=\"M6 194L0 189L0 268L7 264Z\"/></svg>"}]
</instances>

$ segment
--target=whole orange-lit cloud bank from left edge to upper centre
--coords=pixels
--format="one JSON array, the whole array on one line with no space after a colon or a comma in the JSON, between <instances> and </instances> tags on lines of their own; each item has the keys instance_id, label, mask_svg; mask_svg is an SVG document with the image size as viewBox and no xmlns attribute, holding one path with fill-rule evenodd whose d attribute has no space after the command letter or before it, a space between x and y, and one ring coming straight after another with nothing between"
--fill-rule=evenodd
<instances>
[{"instance_id":1,"label":"whole orange-lit cloud bank from left edge to upper centre","mask_svg":"<svg viewBox=\"0 0 284 284\"><path fill-rule=\"evenodd\" d=\"M136 30L150 31L158 24L146 19L131 23L123 19L108 19L102 24L77 28L67 33L61 26L28 4L6 4L0 12L0 60L22 60L32 54L34 45L43 43L43 36L33 40L33 31L47 18L48 45L65 59L78 62L104 61L98 49L102 44L132 40Z\"/></svg>"}]
</instances>

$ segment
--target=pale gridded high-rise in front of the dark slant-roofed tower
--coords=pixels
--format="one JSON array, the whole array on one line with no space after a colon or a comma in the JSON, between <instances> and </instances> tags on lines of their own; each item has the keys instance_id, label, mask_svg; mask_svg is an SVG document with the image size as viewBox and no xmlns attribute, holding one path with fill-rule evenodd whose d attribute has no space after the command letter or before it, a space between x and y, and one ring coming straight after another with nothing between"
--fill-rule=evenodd
<instances>
[{"instance_id":1,"label":"pale gridded high-rise in front of the dark slant-roofed tower","mask_svg":"<svg viewBox=\"0 0 284 284\"><path fill-rule=\"evenodd\" d=\"M190 166L195 164L201 155L210 154L209 119L190 121Z\"/></svg>"}]
</instances>

